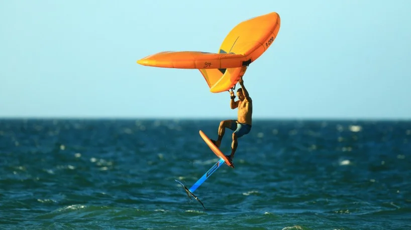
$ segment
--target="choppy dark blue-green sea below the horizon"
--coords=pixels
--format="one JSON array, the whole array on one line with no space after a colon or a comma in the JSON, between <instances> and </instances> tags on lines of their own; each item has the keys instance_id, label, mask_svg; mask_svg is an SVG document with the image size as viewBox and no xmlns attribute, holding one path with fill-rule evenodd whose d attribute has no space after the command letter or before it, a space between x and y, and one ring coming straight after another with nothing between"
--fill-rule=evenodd
<instances>
[{"instance_id":1,"label":"choppy dark blue-green sea below the horizon","mask_svg":"<svg viewBox=\"0 0 411 230\"><path fill-rule=\"evenodd\" d=\"M2 119L2 229L411 229L411 121ZM231 151L231 130L221 150Z\"/></svg>"}]
</instances>

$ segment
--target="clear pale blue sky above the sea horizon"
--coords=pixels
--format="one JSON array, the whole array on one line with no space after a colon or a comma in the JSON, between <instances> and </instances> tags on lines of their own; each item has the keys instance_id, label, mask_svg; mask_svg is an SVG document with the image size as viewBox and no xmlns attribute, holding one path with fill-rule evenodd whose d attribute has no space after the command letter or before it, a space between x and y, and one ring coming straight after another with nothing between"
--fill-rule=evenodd
<instances>
[{"instance_id":1,"label":"clear pale blue sky above the sea horizon","mask_svg":"<svg viewBox=\"0 0 411 230\"><path fill-rule=\"evenodd\" d=\"M243 77L253 118L411 118L406 0L0 1L0 117L236 119L198 70L136 62L217 53L270 12L277 38Z\"/></svg>"}]
</instances>

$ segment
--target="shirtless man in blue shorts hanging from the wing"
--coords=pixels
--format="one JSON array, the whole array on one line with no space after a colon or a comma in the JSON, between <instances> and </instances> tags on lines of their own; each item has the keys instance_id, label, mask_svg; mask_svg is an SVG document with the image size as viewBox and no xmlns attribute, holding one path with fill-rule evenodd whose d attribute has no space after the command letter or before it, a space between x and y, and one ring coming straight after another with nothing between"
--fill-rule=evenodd
<instances>
[{"instance_id":1,"label":"shirtless man in blue shorts hanging from the wing","mask_svg":"<svg viewBox=\"0 0 411 230\"><path fill-rule=\"evenodd\" d=\"M253 113L253 101L251 100L250 96L248 95L248 92L246 88L244 87L244 81L243 78L241 77L240 80L238 81L240 83L240 86L242 88L237 90L237 96L238 96L238 101L234 101L234 92L231 91L231 101L230 101L230 108L235 109L238 108L238 120L224 120L220 122L220 127L219 127L219 137L217 141L212 140L213 143L216 144L217 147L220 147L221 145L221 140L223 139L224 133L226 128L229 128L233 130L233 142L231 143L231 155L227 155L227 158L230 159L230 161L233 160L234 158L234 153L236 152L237 149L237 139L246 135L247 133L250 132L251 130L251 116Z\"/></svg>"}]
</instances>

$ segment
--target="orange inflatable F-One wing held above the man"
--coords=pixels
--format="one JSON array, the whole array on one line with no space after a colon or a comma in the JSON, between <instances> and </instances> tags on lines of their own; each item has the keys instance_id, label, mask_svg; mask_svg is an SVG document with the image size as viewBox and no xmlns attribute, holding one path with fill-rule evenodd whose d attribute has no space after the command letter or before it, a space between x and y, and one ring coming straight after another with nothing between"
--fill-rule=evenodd
<instances>
[{"instance_id":1,"label":"orange inflatable F-One wing held above the man","mask_svg":"<svg viewBox=\"0 0 411 230\"><path fill-rule=\"evenodd\" d=\"M137 61L144 66L198 69L210 87L220 93L233 89L247 67L274 42L280 29L277 13L258 16L234 27L218 53L199 51L160 52Z\"/></svg>"}]
</instances>

